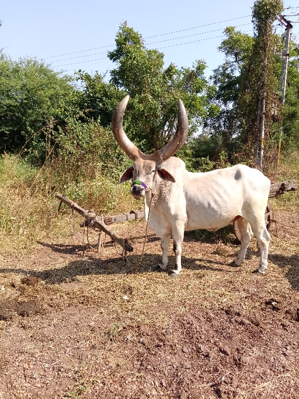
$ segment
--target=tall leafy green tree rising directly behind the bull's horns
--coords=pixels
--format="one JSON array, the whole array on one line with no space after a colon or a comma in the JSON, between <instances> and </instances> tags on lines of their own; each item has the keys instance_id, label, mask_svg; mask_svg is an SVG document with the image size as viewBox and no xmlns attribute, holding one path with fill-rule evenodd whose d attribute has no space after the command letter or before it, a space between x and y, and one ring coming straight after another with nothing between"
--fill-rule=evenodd
<instances>
[{"instance_id":1,"label":"tall leafy green tree rising directly behind the bull's horns","mask_svg":"<svg viewBox=\"0 0 299 399\"><path fill-rule=\"evenodd\" d=\"M117 64L111 71L111 83L131 96L125 114L126 133L145 152L168 142L176 127L177 100L181 98L190 123L190 134L198 130L208 113L213 87L203 72L205 64L196 61L193 68L170 64L163 69L163 54L146 49L142 36L123 23L116 37L116 49L108 53Z\"/></svg>"}]
</instances>

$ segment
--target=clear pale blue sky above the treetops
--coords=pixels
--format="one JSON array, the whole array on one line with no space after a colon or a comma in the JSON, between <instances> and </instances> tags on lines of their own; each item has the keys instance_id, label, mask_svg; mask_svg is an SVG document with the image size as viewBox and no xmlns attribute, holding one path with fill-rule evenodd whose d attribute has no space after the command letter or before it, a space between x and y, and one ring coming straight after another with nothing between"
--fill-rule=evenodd
<instances>
[{"instance_id":1,"label":"clear pale blue sky above the treetops","mask_svg":"<svg viewBox=\"0 0 299 399\"><path fill-rule=\"evenodd\" d=\"M67 74L78 69L105 73L113 68L107 51L114 48L119 26L127 21L145 38L148 48L164 53L165 66L173 62L178 67L191 67L195 60L204 59L209 76L223 61L217 47L226 26L253 33L253 3L254 0L2 0L0 48L12 59L34 57ZM298 0L286 0L285 7L289 6L297 8L287 9L285 14L299 13ZM298 21L293 35L299 41L299 15L287 19ZM280 31L283 30L278 26L277 32Z\"/></svg>"}]
</instances>

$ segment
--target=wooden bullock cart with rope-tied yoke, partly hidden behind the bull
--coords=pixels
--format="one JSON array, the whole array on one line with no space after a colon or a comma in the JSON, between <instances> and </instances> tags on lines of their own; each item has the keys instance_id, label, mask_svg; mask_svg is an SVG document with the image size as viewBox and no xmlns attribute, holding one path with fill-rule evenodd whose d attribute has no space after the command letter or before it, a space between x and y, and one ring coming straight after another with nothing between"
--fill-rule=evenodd
<instances>
[{"instance_id":1,"label":"wooden bullock cart with rope-tied yoke, partly hidden behind the bull","mask_svg":"<svg viewBox=\"0 0 299 399\"><path fill-rule=\"evenodd\" d=\"M269 193L269 198L277 197L282 194L286 194L289 191L296 191L297 190L297 182L296 180L292 180L289 182L283 182L283 183L272 183L270 186L270 193ZM80 223L80 227L87 227L87 228L92 228L94 230L99 231L99 239L98 239L98 252L100 253L100 248L102 245L102 232L105 232L107 235L111 237L111 239L115 242L117 242L124 250L125 253L125 258L127 255L127 252L133 252L134 248L128 242L126 238L121 237L119 234L117 234L115 231L111 230L108 227L108 224L111 223L118 223L121 221L126 221L126 220L134 220L134 219L142 219L145 217L145 211L144 209L142 210L131 210L129 213L122 213L119 215L113 215L113 216L98 216L96 213L92 210L86 210L83 209L81 206L79 206L76 202L73 202L72 200L69 200L66 197L61 196L60 194L56 194L56 198L60 200L60 205L58 208L58 211L60 210L62 202L68 205L71 209L72 212L76 211L78 212L81 216L84 217L85 221L83 223ZM271 204L268 202L267 208L265 211L265 220L266 220L266 226L267 229L269 230L271 223L273 221L273 209ZM78 236L74 222L73 222L73 231L78 239L79 242L84 244L82 239ZM237 227L237 223L233 223L233 232L235 236L240 240L240 232ZM89 244L89 242L87 242ZM90 244L89 244L90 245ZM90 245L91 246L91 245ZM122 259L122 258L119 258Z\"/></svg>"}]
</instances>

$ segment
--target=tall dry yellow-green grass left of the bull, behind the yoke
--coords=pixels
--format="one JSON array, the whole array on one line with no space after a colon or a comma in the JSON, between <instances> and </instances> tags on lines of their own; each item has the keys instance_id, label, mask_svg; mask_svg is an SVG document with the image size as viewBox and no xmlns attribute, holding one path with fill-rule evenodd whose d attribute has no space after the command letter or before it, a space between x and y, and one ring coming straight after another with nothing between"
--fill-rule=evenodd
<instances>
[{"instance_id":1,"label":"tall dry yellow-green grass left of the bull, behind the yoke","mask_svg":"<svg viewBox=\"0 0 299 399\"><path fill-rule=\"evenodd\" d=\"M56 169L55 169L56 168ZM36 168L17 156L0 158L0 254L18 256L36 241L71 235L67 209L58 213L56 192L96 213L114 214L142 206L134 203L128 187L94 171L93 179L61 179L58 164Z\"/></svg>"}]
</instances>

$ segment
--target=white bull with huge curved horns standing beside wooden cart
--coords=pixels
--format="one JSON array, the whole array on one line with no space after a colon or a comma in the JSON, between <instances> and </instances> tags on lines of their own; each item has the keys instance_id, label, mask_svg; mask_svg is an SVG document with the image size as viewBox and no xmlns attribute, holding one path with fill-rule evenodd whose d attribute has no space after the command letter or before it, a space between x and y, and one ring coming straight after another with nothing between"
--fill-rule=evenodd
<instances>
[{"instance_id":1,"label":"white bull with huge curved horns standing beside wooden cart","mask_svg":"<svg viewBox=\"0 0 299 399\"><path fill-rule=\"evenodd\" d=\"M123 116L129 98L125 97L119 103L112 119L117 142L134 161L134 165L121 176L120 183L132 179L131 194L144 198L149 227L161 239L162 260L157 269L165 270L167 266L171 235L175 269L169 275L177 277L181 271L184 230L204 228L216 231L236 221L241 235L241 249L231 265L240 266L244 261L254 233L260 247L260 265L256 272L264 274L270 241L265 223L270 180L260 171L245 165L206 173L188 172L182 160L172 157L183 145L188 133L188 118L181 100L178 101L177 129L171 142L151 155L142 153L123 129Z\"/></svg>"}]
</instances>

